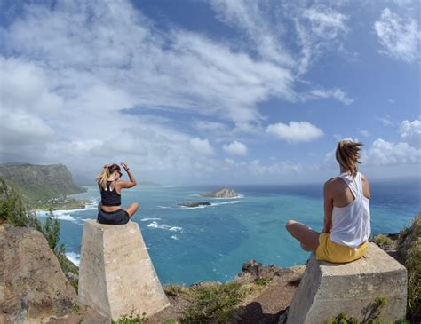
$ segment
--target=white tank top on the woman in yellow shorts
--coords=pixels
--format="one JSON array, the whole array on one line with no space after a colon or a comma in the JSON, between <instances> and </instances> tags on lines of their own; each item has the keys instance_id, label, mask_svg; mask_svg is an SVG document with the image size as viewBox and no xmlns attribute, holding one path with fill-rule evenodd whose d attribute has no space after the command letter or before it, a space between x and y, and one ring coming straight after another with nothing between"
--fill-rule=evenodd
<instances>
[{"instance_id":1,"label":"white tank top on the woman in yellow shorts","mask_svg":"<svg viewBox=\"0 0 421 324\"><path fill-rule=\"evenodd\" d=\"M361 173L355 178L349 172L339 175L353 192L355 199L346 207L335 207L332 210L332 230L330 240L338 244L357 248L369 240L371 226L369 224L369 199L362 192Z\"/></svg>"}]
</instances>

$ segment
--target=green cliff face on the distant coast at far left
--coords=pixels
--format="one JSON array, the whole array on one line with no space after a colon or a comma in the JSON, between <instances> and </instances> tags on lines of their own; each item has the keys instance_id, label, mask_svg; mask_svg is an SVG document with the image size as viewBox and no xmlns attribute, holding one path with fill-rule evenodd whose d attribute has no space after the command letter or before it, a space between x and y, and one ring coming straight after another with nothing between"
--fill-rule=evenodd
<instances>
[{"instance_id":1,"label":"green cliff face on the distant coast at far left","mask_svg":"<svg viewBox=\"0 0 421 324\"><path fill-rule=\"evenodd\" d=\"M85 191L75 185L72 174L63 164L4 164L0 165L0 178L15 186L30 201Z\"/></svg>"}]
</instances>

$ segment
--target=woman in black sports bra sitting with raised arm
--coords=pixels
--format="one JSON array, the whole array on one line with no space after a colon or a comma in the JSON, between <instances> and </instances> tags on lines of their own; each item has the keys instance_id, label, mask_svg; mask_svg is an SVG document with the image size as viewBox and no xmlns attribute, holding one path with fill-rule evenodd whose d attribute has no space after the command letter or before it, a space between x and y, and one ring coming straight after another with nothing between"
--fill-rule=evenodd
<instances>
[{"instance_id":1,"label":"woman in black sports bra sitting with raised arm","mask_svg":"<svg viewBox=\"0 0 421 324\"><path fill-rule=\"evenodd\" d=\"M121 162L120 165L127 172L130 181L117 181L123 174L120 166L115 163L104 165L104 170L96 178L101 194L98 205L98 222L101 224L126 224L139 208L137 202L133 202L127 209L121 208L121 190L136 186L136 180L126 163Z\"/></svg>"}]
</instances>

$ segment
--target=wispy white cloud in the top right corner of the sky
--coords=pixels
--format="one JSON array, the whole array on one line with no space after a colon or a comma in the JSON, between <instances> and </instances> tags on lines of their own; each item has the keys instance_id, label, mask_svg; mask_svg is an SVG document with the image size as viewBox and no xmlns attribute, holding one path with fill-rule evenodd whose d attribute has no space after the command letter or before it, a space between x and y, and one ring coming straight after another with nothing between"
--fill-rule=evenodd
<instances>
[{"instance_id":1,"label":"wispy white cloud in the top right corner of the sky","mask_svg":"<svg viewBox=\"0 0 421 324\"><path fill-rule=\"evenodd\" d=\"M406 62L419 58L418 44L421 33L418 30L417 20L402 18L389 8L385 8L373 28L377 33L378 42L383 46L380 53Z\"/></svg>"}]
</instances>

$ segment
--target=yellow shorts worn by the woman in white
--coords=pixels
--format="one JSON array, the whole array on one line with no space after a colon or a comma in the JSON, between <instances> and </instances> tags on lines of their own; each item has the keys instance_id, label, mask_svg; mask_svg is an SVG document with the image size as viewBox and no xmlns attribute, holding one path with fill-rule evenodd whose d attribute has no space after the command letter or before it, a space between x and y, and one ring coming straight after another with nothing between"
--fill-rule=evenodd
<instances>
[{"instance_id":1,"label":"yellow shorts worn by the woman in white","mask_svg":"<svg viewBox=\"0 0 421 324\"><path fill-rule=\"evenodd\" d=\"M369 241L365 241L358 248L353 249L346 245L330 241L330 233L321 233L319 246L316 249L316 259L331 263L345 263L359 259L366 255L369 249Z\"/></svg>"}]
</instances>

